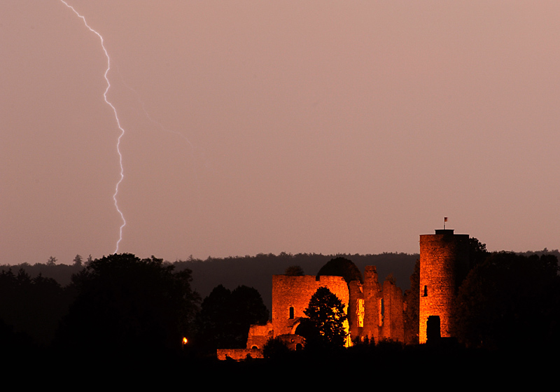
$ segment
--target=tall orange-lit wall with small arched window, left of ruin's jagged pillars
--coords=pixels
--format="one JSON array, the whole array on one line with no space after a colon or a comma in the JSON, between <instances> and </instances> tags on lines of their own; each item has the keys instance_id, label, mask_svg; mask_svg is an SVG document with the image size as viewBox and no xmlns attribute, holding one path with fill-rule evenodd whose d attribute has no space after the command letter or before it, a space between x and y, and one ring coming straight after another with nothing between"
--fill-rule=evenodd
<instances>
[{"instance_id":1,"label":"tall orange-lit wall with small arched window, left of ruin's jagged pillars","mask_svg":"<svg viewBox=\"0 0 560 392\"><path fill-rule=\"evenodd\" d=\"M293 333L297 319L304 317L311 296L320 287L328 288L344 304L345 311L349 304L349 290L342 276L272 276L272 327L274 337ZM290 307L293 318L290 318Z\"/></svg>"}]
</instances>

